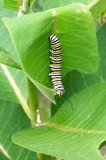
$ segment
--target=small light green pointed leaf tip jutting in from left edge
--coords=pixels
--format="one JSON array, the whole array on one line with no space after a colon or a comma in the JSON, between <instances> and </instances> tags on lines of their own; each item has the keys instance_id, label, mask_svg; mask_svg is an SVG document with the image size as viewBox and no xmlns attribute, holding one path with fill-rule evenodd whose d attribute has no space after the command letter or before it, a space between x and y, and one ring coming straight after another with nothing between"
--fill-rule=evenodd
<instances>
[{"instance_id":1,"label":"small light green pointed leaf tip jutting in from left edge","mask_svg":"<svg viewBox=\"0 0 106 160\"><path fill-rule=\"evenodd\" d=\"M11 57L8 51L6 51L3 47L0 47L0 63L21 69L20 64L16 62L15 59L13 59L13 57Z\"/></svg>"}]
</instances>

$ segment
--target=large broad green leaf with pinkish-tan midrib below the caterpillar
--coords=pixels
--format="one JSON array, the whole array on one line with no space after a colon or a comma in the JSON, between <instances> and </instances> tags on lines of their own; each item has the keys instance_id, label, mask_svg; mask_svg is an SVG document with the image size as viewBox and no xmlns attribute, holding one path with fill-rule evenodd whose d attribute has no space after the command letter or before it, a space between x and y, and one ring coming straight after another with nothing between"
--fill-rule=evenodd
<instances>
[{"instance_id":1,"label":"large broad green leaf with pinkish-tan midrib below the caterpillar","mask_svg":"<svg viewBox=\"0 0 106 160\"><path fill-rule=\"evenodd\" d=\"M16 133L14 143L65 160L102 160L98 147L106 139L106 83L75 94L71 101L73 110L67 101L49 122Z\"/></svg>"}]
</instances>

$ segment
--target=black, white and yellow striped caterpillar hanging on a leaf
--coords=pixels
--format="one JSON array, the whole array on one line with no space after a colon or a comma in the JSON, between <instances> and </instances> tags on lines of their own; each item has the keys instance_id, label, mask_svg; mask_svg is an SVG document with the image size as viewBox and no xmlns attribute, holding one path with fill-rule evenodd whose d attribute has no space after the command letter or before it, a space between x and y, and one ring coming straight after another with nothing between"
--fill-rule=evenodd
<instances>
[{"instance_id":1,"label":"black, white and yellow striped caterpillar hanging on a leaf","mask_svg":"<svg viewBox=\"0 0 106 160\"><path fill-rule=\"evenodd\" d=\"M61 51L61 43L59 38L54 35L49 37L51 48L50 48L50 60L51 64L50 69L51 73L49 76L52 79L53 89L58 97L64 96L64 87L62 84L62 76L61 76L61 63L62 63L62 51Z\"/></svg>"}]
</instances>

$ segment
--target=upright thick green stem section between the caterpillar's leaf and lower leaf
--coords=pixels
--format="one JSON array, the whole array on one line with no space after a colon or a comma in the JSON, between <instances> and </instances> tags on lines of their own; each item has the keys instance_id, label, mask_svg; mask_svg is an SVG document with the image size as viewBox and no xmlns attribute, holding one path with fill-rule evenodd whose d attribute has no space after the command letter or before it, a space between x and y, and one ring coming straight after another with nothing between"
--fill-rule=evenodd
<instances>
[{"instance_id":1,"label":"upright thick green stem section between the caterpillar's leaf and lower leaf","mask_svg":"<svg viewBox=\"0 0 106 160\"><path fill-rule=\"evenodd\" d=\"M31 123L33 127L37 122L36 109L38 106L38 92L37 88L29 78L27 78L27 83L28 83L28 93L29 93L29 106L31 111Z\"/></svg>"}]
</instances>

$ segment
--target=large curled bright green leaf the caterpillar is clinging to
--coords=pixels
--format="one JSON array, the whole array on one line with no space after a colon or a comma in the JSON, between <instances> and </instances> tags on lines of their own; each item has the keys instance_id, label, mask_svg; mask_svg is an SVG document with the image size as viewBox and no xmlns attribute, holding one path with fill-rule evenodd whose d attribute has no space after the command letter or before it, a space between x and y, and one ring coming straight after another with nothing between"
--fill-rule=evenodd
<instances>
[{"instance_id":1,"label":"large curled bright green leaf the caterpillar is clinging to","mask_svg":"<svg viewBox=\"0 0 106 160\"><path fill-rule=\"evenodd\" d=\"M57 14L56 35L60 37L63 51L63 77L73 69L84 73L97 72L97 41L93 19L87 7L72 4L57 8L55 11ZM48 76L50 72L48 37L53 34L53 11L14 19L4 18L4 22L27 75L43 94L54 101L53 91L49 89L52 86Z\"/></svg>"}]
</instances>

